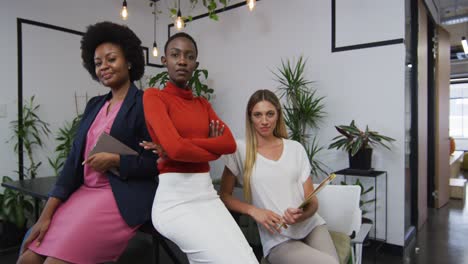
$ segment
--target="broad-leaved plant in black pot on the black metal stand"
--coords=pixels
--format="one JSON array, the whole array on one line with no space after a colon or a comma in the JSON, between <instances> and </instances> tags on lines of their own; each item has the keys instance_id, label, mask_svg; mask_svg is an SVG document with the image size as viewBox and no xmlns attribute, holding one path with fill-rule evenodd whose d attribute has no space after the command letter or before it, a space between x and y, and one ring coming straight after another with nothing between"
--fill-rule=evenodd
<instances>
[{"instance_id":1,"label":"broad-leaved plant in black pot on the black metal stand","mask_svg":"<svg viewBox=\"0 0 468 264\"><path fill-rule=\"evenodd\" d=\"M372 167L372 147L380 145L390 149L385 143L395 141L391 137L369 130L368 126L365 131L360 130L354 120L348 126L341 125L335 128L340 135L332 139L333 142L328 149L336 148L347 151L351 169L369 170Z\"/></svg>"}]
</instances>

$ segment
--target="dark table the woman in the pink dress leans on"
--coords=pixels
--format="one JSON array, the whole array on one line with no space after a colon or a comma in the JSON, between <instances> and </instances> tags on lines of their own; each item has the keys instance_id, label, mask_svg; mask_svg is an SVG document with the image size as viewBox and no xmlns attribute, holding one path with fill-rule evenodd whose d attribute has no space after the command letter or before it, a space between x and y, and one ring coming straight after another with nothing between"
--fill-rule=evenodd
<instances>
[{"instance_id":1,"label":"dark table the woman in the pink dress leans on","mask_svg":"<svg viewBox=\"0 0 468 264\"><path fill-rule=\"evenodd\" d=\"M36 199L41 199L46 201L49 199L49 192L52 190L52 188L55 185L55 182L57 181L56 176L52 177L41 177L41 178L35 178L35 179L30 179L30 180L20 180L20 181L13 181L13 182L5 182L2 183L2 186L5 188L10 188L16 191L19 191L21 193L24 193L26 195L30 195ZM38 218L38 205L36 203L36 220ZM154 263L159 264L159 246L161 245L168 256L171 258L173 263L179 264L180 261L172 251L172 249L169 247L169 245L166 243L166 238L163 237L161 234L159 234L156 229L154 229L151 221L145 223L142 225L138 231L149 234L153 238L153 254L154 254Z\"/></svg>"}]
</instances>

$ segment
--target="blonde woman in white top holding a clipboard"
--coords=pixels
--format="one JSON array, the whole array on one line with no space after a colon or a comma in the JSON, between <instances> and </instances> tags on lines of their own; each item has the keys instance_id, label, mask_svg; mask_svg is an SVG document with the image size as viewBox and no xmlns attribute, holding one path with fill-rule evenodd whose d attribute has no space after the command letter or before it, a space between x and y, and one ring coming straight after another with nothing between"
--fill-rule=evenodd
<instances>
[{"instance_id":1,"label":"blonde woman in white top holding a clipboard","mask_svg":"<svg viewBox=\"0 0 468 264\"><path fill-rule=\"evenodd\" d=\"M325 221L316 213L318 200L304 210L295 208L314 190L311 166L304 147L287 139L273 92L258 90L250 97L246 139L237 141L237 151L224 160L221 199L258 223L263 254L271 264L338 263ZM232 196L236 179L247 202ZM281 222L288 228L280 229Z\"/></svg>"}]
</instances>

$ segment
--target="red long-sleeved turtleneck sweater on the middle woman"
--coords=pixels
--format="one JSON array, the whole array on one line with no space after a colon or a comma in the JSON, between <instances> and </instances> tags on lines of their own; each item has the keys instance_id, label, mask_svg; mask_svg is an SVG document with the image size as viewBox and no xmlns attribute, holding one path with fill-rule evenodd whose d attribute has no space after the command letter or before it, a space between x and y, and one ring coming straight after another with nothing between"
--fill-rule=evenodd
<instances>
[{"instance_id":1,"label":"red long-sleeved turtleneck sweater on the middle woman","mask_svg":"<svg viewBox=\"0 0 468 264\"><path fill-rule=\"evenodd\" d=\"M236 151L229 128L210 103L193 97L190 89L178 88L170 81L163 90L149 88L143 95L143 107L151 138L168 156L158 163L160 173L208 172L208 161ZM222 136L208 138L211 120L224 124Z\"/></svg>"}]
</instances>

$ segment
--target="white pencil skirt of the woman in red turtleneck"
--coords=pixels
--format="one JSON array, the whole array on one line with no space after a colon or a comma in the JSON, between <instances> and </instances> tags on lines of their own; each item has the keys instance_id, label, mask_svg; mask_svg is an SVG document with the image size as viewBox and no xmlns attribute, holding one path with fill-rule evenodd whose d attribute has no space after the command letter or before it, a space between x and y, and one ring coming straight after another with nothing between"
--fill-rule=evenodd
<instances>
[{"instance_id":1,"label":"white pencil skirt of the woman in red turtleneck","mask_svg":"<svg viewBox=\"0 0 468 264\"><path fill-rule=\"evenodd\" d=\"M209 173L160 174L151 218L190 263L258 263Z\"/></svg>"}]
</instances>

